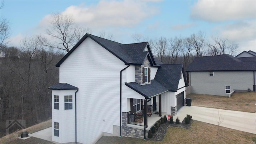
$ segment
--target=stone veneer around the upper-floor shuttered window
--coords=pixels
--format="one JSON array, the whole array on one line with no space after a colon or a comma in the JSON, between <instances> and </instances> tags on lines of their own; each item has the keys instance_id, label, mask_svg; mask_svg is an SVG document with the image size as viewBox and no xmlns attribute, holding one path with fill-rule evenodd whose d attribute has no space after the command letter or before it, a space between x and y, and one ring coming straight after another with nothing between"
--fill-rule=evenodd
<instances>
[{"instance_id":1,"label":"stone veneer around the upper-floor shuttered window","mask_svg":"<svg viewBox=\"0 0 256 144\"><path fill-rule=\"evenodd\" d=\"M143 67L148 67L150 68L150 62L148 60L148 58L146 58L146 60L144 61L143 65L141 66L135 66L135 82L139 83L139 84L143 84L143 80L142 80L142 68ZM150 72L150 71L149 71Z\"/></svg>"}]
</instances>

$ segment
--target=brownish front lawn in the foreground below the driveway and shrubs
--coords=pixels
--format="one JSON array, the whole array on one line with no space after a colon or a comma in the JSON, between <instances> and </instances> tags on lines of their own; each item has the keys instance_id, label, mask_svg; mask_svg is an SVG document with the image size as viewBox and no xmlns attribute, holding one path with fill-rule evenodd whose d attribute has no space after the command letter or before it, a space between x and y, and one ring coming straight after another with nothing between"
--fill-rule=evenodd
<instances>
[{"instance_id":1,"label":"brownish front lawn in the foreground below the driveway and shrubs","mask_svg":"<svg viewBox=\"0 0 256 144\"><path fill-rule=\"evenodd\" d=\"M190 129L169 127L164 140L103 136L96 144L255 144L256 135L193 120Z\"/></svg>"}]
</instances>

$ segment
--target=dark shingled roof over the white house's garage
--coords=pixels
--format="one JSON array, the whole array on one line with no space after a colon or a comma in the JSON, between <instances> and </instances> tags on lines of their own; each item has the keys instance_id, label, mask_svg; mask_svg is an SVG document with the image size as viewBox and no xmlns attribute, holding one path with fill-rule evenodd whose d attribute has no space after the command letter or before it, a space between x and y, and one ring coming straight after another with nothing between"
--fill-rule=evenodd
<instances>
[{"instance_id":1,"label":"dark shingled roof over the white house's garage","mask_svg":"<svg viewBox=\"0 0 256 144\"><path fill-rule=\"evenodd\" d=\"M154 80L158 81L169 91L176 92L178 90L181 72L183 72L183 77L186 78L182 64L162 64L158 68Z\"/></svg>"}]
</instances>

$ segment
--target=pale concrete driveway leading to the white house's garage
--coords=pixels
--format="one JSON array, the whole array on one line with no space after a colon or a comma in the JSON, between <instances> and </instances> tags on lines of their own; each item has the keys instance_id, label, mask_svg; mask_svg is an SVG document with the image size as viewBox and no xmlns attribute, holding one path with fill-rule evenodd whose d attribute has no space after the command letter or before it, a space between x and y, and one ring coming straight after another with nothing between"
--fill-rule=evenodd
<instances>
[{"instance_id":1,"label":"pale concrete driveway leading to the white house's garage","mask_svg":"<svg viewBox=\"0 0 256 144\"><path fill-rule=\"evenodd\" d=\"M174 116L183 120L186 114L192 115L193 120L218 125L218 119L223 118L220 126L232 128L244 132L256 134L256 113L239 112L234 110L222 110L216 108L204 108L198 106L184 106Z\"/></svg>"}]
</instances>

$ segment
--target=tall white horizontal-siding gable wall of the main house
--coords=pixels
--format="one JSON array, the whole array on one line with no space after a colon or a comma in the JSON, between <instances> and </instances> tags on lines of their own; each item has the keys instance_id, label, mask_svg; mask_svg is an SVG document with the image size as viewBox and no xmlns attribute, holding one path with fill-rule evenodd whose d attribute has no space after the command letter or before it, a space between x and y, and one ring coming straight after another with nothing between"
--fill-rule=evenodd
<instances>
[{"instance_id":1,"label":"tall white horizontal-siding gable wall of the main house","mask_svg":"<svg viewBox=\"0 0 256 144\"><path fill-rule=\"evenodd\" d=\"M120 70L126 65L91 38L86 38L60 65L60 83L77 92L77 142L92 143L113 133L120 118ZM126 73L123 72L123 86Z\"/></svg>"}]
</instances>

